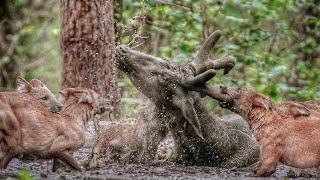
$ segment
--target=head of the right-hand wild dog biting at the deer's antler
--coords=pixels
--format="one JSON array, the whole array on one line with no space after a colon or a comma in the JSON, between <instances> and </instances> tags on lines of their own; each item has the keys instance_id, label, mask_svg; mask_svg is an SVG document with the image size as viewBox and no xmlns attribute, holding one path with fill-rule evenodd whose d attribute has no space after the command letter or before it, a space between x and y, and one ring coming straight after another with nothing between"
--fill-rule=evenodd
<instances>
[{"instance_id":1,"label":"head of the right-hand wild dog biting at the deer's antler","mask_svg":"<svg viewBox=\"0 0 320 180\"><path fill-rule=\"evenodd\" d=\"M220 103L220 105L242 116L247 116L247 113L253 108L270 110L273 107L269 97L257 93L253 89L221 87L221 92L229 95L233 101L226 104Z\"/></svg>"}]
</instances>

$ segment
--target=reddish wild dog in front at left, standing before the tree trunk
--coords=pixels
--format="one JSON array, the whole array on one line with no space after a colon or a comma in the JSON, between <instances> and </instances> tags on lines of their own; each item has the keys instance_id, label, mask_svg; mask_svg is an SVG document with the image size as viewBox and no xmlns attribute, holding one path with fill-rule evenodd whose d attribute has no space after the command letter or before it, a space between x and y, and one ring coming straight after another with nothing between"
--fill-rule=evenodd
<instances>
[{"instance_id":1,"label":"reddish wild dog in front at left, standing before the tree trunk","mask_svg":"<svg viewBox=\"0 0 320 180\"><path fill-rule=\"evenodd\" d=\"M6 99L16 106L2 109L7 116L1 123L9 128L1 129L5 139L0 145L1 169L19 154L55 157L77 170L81 169L72 153L84 145L86 124L99 106L98 94L80 87L67 88L60 93L66 97L60 114L48 111L29 94L19 93ZM21 136L17 137L14 132L20 132Z\"/></svg>"}]
</instances>

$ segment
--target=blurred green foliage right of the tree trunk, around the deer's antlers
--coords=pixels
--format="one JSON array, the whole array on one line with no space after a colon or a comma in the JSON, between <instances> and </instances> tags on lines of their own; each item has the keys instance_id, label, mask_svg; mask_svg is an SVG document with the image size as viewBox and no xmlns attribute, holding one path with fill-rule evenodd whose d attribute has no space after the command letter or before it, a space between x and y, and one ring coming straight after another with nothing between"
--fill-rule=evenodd
<instances>
[{"instance_id":1,"label":"blurred green foliage right of the tree trunk, around the deer's antlers","mask_svg":"<svg viewBox=\"0 0 320 180\"><path fill-rule=\"evenodd\" d=\"M314 55L320 49L319 36L314 36L319 35L320 18L306 15L310 7L318 8L319 13L318 4L291 0L205 2L201 9L200 1L146 1L144 33L149 39L141 50L186 62L203 42L205 28L209 32L220 29L223 38L212 51L212 59L232 54L238 62L230 75L217 75L213 83L255 88L274 100L320 99L320 55ZM118 24L144 12L137 1L124 0L123 4ZM301 26L313 29L301 32ZM155 41L157 48L149 43Z\"/></svg>"}]
</instances>

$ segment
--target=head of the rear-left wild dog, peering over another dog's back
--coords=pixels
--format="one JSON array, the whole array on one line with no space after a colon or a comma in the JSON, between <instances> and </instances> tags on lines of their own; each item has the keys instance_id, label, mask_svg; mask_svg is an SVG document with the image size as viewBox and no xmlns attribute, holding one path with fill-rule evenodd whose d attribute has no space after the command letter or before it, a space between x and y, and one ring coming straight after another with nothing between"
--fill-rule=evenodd
<instances>
[{"instance_id":1,"label":"head of the rear-left wild dog, peering over another dog's back","mask_svg":"<svg viewBox=\"0 0 320 180\"><path fill-rule=\"evenodd\" d=\"M24 78L17 77L18 92L30 93L34 98L41 102L47 109L52 112L59 112L62 104L56 96L38 79L32 79L30 83Z\"/></svg>"}]
</instances>

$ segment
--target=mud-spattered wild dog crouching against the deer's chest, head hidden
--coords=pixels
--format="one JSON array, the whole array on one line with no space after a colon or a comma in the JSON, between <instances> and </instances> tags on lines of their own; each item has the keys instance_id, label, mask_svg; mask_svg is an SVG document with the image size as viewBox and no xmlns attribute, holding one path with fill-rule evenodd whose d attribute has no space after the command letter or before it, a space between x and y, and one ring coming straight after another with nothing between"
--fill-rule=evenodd
<instances>
[{"instance_id":1,"label":"mud-spattered wild dog crouching against the deer's chest, head hidden","mask_svg":"<svg viewBox=\"0 0 320 180\"><path fill-rule=\"evenodd\" d=\"M108 126L99 133L92 149L92 158L89 168L101 167L113 161L122 163L137 163L143 152L143 141L147 131L147 121L150 114L144 111L150 106L145 104L138 111L136 123L117 123ZM161 133L161 139L166 136L166 131Z\"/></svg>"}]
</instances>

